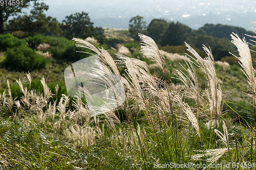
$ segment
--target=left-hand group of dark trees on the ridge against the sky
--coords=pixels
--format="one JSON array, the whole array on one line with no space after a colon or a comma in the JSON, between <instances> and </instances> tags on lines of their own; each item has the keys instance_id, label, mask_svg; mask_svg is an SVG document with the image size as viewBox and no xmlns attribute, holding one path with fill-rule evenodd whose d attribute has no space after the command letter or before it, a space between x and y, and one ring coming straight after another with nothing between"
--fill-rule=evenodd
<instances>
[{"instance_id":1,"label":"left-hand group of dark trees on the ridge against the sky","mask_svg":"<svg viewBox=\"0 0 256 170\"><path fill-rule=\"evenodd\" d=\"M22 9L28 8L31 4L33 8L30 14L20 15ZM23 0L22 6L0 6L0 34L12 33L19 38L36 34L62 35L68 39L94 37L100 44L104 43L103 29L93 27L88 13L68 15L59 23L56 18L44 14L48 9L48 5L37 0ZM10 19L12 16L14 18Z\"/></svg>"}]
</instances>

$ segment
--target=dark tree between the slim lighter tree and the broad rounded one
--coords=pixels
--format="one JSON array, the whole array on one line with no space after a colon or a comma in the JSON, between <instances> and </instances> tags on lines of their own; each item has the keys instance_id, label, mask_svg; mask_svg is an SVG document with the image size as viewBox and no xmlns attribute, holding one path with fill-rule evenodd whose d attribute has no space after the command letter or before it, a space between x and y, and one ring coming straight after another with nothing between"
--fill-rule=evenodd
<instances>
[{"instance_id":1,"label":"dark tree between the slim lighter tree and the broad rounded one","mask_svg":"<svg viewBox=\"0 0 256 170\"><path fill-rule=\"evenodd\" d=\"M153 19L147 27L148 36L159 43L160 34L168 27L168 22L164 19Z\"/></svg>"}]
</instances>

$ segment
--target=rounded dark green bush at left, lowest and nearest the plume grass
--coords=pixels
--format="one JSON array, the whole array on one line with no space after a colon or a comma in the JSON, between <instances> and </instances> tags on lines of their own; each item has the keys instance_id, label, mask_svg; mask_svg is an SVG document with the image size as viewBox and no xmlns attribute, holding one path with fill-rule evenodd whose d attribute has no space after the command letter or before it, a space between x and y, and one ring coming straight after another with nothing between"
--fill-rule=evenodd
<instances>
[{"instance_id":1,"label":"rounded dark green bush at left, lowest and nearest the plume grass","mask_svg":"<svg viewBox=\"0 0 256 170\"><path fill-rule=\"evenodd\" d=\"M19 71L31 71L43 68L47 64L47 59L32 50L27 45L8 48L5 65L11 69Z\"/></svg>"}]
</instances>

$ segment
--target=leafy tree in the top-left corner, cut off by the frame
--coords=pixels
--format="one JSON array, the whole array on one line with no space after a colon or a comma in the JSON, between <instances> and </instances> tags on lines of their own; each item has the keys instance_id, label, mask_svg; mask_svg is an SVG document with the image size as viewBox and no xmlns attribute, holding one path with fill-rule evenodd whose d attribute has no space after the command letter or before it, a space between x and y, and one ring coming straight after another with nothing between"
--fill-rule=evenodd
<instances>
[{"instance_id":1,"label":"leafy tree in the top-left corner, cut off by the frame","mask_svg":"<svg viewBox=\"0 0 256 170\"><path fill-rule=\"evenodd\" d=\"M7 21L10 16L22 13L22 9L28 8L30 2L34 1L36 0L23 0L22 4L16 4L17 2L21 3L21 1L15 1L15 5L11 3L9 4L9 1L4 1L4 5L0 6L0 34L4 34L4 22Z\"/></svg>"}]
</instances>

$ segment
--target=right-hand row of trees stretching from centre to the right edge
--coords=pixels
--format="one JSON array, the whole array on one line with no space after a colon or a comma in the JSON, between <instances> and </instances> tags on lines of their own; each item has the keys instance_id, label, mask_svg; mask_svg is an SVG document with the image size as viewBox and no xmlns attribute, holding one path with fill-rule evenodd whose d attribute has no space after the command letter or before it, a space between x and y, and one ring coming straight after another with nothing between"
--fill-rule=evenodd
<instances>
[{"instance_id":1,"label":"right-hand row of trees stretching from centre to the right edge","mask_svg":"<svg viewBox=\"0 0 256 170\"><path fill-rule=\"evenodd\" d=\"M230 42L232 32L239 36L253 35L252 31L228 25L206 23L198 30L193 30L178 21L169 22L165 19L153 19L147 25L143 19L142 16L135 16L130 20L129 32L135 40L139 40L138 33L141 33L150 36L159 46L179 46L187 42L202 49L204 44L211 47L216 60L231 56L229 52L235 51L234 45ZM248 37L247 39L249 41Z\"/></svg>"}]
</instances>

